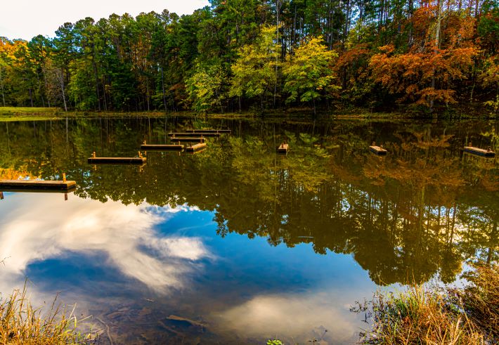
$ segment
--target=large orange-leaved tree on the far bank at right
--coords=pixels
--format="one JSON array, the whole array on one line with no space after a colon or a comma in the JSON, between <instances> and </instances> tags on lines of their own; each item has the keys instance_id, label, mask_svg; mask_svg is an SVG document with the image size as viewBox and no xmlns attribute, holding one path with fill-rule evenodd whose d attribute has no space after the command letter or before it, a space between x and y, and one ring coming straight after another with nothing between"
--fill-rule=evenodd
<instances>
[{"instance_id":1,"label":"large orange-leaved tree on the far bank at right","mask_svg":"<svg viewBox=\"0 0 499 345\"><path fill-rule=\"evenodd\" d=\"M406 22L411 37L406 51L394 44L370 58L373 81L400 102L425 105L455 103L459 83L467 79L479 48L474 44L475 18L442 4L425 3Z\"/></svg>"}]
</instances>

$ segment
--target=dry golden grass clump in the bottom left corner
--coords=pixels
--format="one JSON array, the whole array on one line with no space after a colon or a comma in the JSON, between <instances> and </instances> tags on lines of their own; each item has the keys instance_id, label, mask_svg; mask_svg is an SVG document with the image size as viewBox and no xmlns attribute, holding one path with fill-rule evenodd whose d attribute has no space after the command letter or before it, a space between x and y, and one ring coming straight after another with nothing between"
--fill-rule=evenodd
<instances>
[{"instance_id":1,"label":"dry golden grass clump in the bottom left corner","mask_svg":"<svg viewBox=\"0 0 499 345\"><path fill-rule=\"evenodd\" d=\"M44 314L33 308L26 289L15 290L8 299L0 297L0 344L55 345L89 344L91 337L77 332L73 311L67 313L55 301Z\"/></svg>"}]
</instances>

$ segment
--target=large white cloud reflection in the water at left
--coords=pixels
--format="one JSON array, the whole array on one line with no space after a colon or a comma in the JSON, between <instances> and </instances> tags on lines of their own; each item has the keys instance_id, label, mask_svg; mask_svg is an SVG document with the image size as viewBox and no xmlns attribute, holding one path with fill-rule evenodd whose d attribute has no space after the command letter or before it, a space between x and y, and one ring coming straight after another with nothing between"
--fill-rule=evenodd
<instances>
[{"instance_id":1,"label":"large white cloud reflection in the water at left","mask_svg":"<svg viewBox=\"0 0 499 345\"><path fill-rule=\"evenodd\" d=\"M157 293L182 288L182 276L212 255L199 237L164 237L155 226L176 212L195 210L186 205L102 204L73 195L63 202L57 194L9 194L0 204L0 257L8 257L0 275L19 281L30 263L65 252L102 252L108 266Z\"/></svg>"}]
</instances>

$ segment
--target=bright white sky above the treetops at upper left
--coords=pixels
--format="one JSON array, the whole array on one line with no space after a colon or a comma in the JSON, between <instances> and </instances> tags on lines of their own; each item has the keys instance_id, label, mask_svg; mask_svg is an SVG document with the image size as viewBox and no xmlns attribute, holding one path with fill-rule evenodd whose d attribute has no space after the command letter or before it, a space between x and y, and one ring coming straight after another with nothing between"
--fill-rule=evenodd
<instances>
[{"instance_id":1,"label":"bright white sky above the treetops at upper left","mask_svg":"<svg viewBox=\"0 0 499 345\"><path fill-rule=\"evenodd\" d=\"M76 22L85 17L94 20L108 18L110 14L138 13L164 9L179 15L193 13L197 8L207 6L207 0L17 0L3 1L0 11L0 36L9 39L30 40L37 34L53 37L64 22Z\"/></svg>"}]
</instances>

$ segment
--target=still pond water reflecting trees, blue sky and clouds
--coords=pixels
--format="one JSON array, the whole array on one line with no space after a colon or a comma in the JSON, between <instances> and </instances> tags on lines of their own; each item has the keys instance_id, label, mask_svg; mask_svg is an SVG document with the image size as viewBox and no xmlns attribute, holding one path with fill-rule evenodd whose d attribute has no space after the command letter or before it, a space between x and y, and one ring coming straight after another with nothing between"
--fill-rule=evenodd
<instances>
[{"instance_id":1,"label":"still pond water reflecting trees, blue sky and clouds","mask_svg":"<svg viewBox=\"0 0 499 345\"><path fill-rule=\"evenodd\" d=\"M229 128L197 155L146 152L169 131ZM110 344L351 344L349 311L383 286L451 283L496 261L497 122L68 119L0 122L0 178L77 181L4 192L0 292L92 315ZM286 156L279 143L290 143ZM375 141L389 150L378 157ZM67 200L66 200L67 199Z\"/></svg>"}]
</instances>

